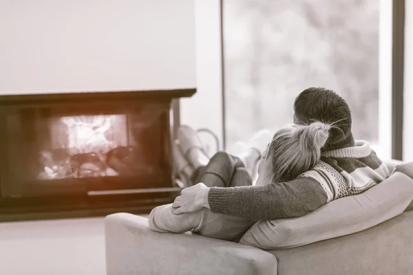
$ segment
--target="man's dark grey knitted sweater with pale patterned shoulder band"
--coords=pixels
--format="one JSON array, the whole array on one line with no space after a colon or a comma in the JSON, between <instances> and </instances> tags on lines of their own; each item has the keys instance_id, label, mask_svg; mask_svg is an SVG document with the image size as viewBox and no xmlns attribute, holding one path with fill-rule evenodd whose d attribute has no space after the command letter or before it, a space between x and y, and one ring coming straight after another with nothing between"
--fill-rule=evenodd
<instances>
[{"instance_id":1,"label":"man's dark grey knitted sweater with pale patterned shoulder band","mask_svg":"<svg viewBox=\"0 0 413 275\"><path fill-rule=\"evenodd\" d=\"M317 165L288 182L209 190L213 212L254 220L301 217L328 201L356 195L390 173L365 141L322 153Z\"/></svg>"}]
</instances>

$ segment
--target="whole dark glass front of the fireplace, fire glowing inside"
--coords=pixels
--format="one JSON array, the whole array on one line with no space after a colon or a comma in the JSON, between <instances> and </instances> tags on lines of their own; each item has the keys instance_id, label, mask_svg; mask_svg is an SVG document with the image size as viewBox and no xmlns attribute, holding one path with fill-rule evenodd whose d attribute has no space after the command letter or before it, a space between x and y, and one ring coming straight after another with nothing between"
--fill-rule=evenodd
<instances>
[{"instance_id":1,"label":"whole dark glass front of the fireplace, fire glowing inside","mask_svg":"<svg viewBox=\"0 0 413 275\"><path fill-rule=\"evenodd\" d=\"M1 197L171 186L167 103L10 105L3 111Z\"/></svg>"}]
</instances>

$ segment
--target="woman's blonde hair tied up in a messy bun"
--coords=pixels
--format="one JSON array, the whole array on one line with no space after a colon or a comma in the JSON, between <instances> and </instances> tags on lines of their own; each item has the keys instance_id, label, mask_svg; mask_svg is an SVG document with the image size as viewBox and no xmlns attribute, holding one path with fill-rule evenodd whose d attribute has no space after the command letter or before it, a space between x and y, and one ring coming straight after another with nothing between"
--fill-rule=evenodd
<instances>
[{"instance_id":1,"label":"woman's blonde hair tied up in a messy bun","mask_svg":"<svg viewBox=\"0 0 413 275\"><path fill-rule=\"evenodd\" d=\"M266 154L273 172L271 180L290 181L313 168L321 157L321 148L331 128L332 124L313 122L293 124L277 131Z\"/></svg>"}]
</instances>

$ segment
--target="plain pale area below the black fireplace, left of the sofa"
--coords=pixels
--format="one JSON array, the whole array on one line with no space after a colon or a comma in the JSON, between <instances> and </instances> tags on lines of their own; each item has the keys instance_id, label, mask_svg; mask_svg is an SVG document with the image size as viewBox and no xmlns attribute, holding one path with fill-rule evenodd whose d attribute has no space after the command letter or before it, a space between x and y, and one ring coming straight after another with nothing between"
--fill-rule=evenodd
<instances>
[{"instance_id":1,"label":"plain pale area below the black fireplace, left of the sofa","mask_svg":"<svg viewBox=\"0 0 413 275\"><path fill-rule=\"evenodd\" d=\"M0 274L104 275L103 218L0 223Z\"/></svg>"}]
</instances>

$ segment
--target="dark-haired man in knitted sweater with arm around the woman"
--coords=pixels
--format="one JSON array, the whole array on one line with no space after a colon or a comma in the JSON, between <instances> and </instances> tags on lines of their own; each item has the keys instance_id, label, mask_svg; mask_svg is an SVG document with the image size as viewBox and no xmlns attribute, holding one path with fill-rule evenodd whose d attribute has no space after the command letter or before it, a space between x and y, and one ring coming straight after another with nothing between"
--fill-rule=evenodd
<instances>
[{"instance_id":1,"label":"dark-haired man in knitted sweater with arm around the woman","mask_svg":"<svg viewBox=\"0 0 413 275\"><path fill-rule=\"evenodd\" d=\"M288 219L301 217L324 204L363 192L389 176L388 168L367 142L355 142L351 132L351 113L346 100L334 91L309 88L297 96L294 122L313 120L335 124L321 162L292 181L257 186L207 187L203 183L182 190L173 202L173 213L194 212L202 208L246 219ZM196 154L193 150L192 154ZM231 170L231 162L222 165ZM220 177L220 170L209 173Z\"/></svg>"}]
</instances>

